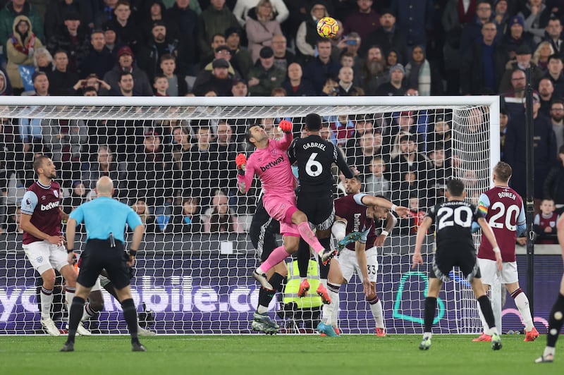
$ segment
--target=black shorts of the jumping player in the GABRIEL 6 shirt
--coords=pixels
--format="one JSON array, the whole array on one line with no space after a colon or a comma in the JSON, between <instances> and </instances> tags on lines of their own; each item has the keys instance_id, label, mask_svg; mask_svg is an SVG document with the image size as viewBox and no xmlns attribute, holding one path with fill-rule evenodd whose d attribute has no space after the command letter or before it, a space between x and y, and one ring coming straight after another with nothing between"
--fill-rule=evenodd
<instances>
[{"instance_id":1,"label":"black shorts of the jumping player in the GABRIEL 6 shirt","mask_svg":"<svg viewBox=\"0 0 564 375\"><path fill-rule=\"evenodd\" d=\"M297 206L307 215L307 221L319 230L331 228L335 221L335 204L333 192L298 192Z\"/></svg>"}]
</instances>

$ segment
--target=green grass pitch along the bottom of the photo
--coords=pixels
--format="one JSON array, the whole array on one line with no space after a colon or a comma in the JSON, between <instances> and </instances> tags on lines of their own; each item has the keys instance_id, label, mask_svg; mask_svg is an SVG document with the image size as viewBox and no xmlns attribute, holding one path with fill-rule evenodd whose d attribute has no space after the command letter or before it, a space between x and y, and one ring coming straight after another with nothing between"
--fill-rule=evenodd
<instances>
[{"instance_id":1,"label":"green grass pitch along the bottom of the photo","mask_svg":"<svg viewBox=\"0 0 564 375\"><path fill-rule=\"evenodd\" d=\"M61 353L64 336L0 336L0 374L563 374L558 350L555 363L534 364L546 336L503 336L499 351L472 337L436 335L422 351L420 335L156 336L130 352L126 336L92 336Z\"/></svg>"}]
</instances>

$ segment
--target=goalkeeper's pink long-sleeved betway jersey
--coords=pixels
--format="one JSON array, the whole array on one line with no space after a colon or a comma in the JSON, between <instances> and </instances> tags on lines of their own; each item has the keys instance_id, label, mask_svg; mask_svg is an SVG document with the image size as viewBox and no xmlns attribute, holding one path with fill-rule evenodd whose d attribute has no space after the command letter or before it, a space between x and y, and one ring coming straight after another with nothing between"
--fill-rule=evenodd
<instances>
[{"instance_id":1,"label":"goalkeeper's pink long-sleeved betway jersey","mask_svg":"<svg viewBox=\"0 0 564 375\"><path fill-rule=\"evenodd\" d=\"M292 138L292 133L284 133L281 140L269 140L269 145L265 149L255 149L247 159L245 175L237 177L239 190L247 192L256 173L262 182L264 199L273 196L295 196L297 180L286 154Z\"/></svg>"}]
</instances>

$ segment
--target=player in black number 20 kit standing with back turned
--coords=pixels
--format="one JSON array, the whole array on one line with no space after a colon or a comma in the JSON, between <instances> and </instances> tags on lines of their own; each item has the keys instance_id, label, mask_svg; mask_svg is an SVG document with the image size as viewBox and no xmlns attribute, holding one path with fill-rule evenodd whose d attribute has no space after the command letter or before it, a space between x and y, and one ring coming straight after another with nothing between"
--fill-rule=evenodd
<instances>
[{"instance_id":1,"label":"player in black number 20 kit standing with back turned","mask_svg":"<svg viewBox=\"0 0 564 375\"><path fill-rule=\"evenodd\" d=\"M436 310L436 299L439 297L443 281L449 281L448 273L453 266L458 266L462 274L472 285L474 297L484 314L486 324L491 331L491 348L501 349L501 338L496 328L494 312L482 285L482 276L476 259L476 249L472 240L472 223L477 222L482 233L491 244L496 259L496 269L502 270L501 250L498 247L494 232L482 212L474 204L465 202L466 190L461 180L448 181L446 191L447 202L431 207L427 216L417 230L415 252L412 259L412 269L423 264L421 248L427 230L432 223L436 223L436 252L432 269L429 274L429 290L425 298L424 334L419 349L428 350L431 347L431 328Z\"/></svg>"}]
</instances>

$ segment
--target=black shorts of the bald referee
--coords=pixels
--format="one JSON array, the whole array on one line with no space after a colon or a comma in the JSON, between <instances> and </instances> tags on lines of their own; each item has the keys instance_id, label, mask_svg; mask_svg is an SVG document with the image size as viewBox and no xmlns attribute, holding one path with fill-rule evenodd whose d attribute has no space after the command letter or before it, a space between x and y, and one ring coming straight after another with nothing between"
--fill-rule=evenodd
<instances>
[{"instance_id":1,"label":"black shorts of the bald referee","mask_svg":"<svg viewBox=\"0 0 564 375\"><path fill-rule=\"evenodd\" d=\"M88 240L80 258L82 261L76 279L80 285L92 288L102 269L106 269L116 289L129 285L129 258L123 251L123 243L116 241L116 246L111 247L109 240Z\"/></svg>"}]
</instances>

